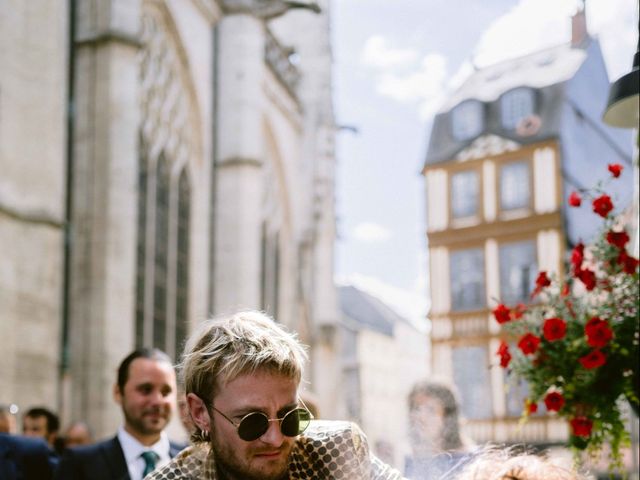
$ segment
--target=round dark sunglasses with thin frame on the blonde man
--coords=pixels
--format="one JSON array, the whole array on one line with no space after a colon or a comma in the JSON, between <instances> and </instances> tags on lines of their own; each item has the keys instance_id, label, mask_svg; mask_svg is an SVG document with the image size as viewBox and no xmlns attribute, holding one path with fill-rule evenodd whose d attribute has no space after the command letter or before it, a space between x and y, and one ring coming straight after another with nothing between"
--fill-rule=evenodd
<instances>
[{"instance_id":1,"label":"round dark sunglasses with thin frame on the blonde man","mask_svg":"<svg viewBox=\"0 0 640 480\"><path fill-rule=\"evenodd\" d=\"M297 407L285 413L282 418L269 418L262 412L251 412L242 417L239 423L236 423L213 405L211 408L236 427L238 436L245 442L253 442L267 433L270 422L279 422L280 431L283 435L296 437L307 429L313 419L313 415L309 410Z\"/></svg>"}]
</instances>

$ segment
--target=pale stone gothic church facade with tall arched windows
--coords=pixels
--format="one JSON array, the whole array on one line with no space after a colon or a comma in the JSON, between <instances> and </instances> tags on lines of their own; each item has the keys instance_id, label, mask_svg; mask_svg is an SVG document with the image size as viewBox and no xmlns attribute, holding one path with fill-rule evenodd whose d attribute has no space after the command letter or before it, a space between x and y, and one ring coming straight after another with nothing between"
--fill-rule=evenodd
<instances>
[{"instance_id":1,"label":"pale stone gothic church facade with tall arched windows","mask_svg":"<svg viewBox=\"0 0 640 480\"><path fill-rule=\"evenodd\" d=\"M0 403L98 435L137 345L263 309L335 408L329 2L0 7Z\"/></svg>"}]
</instances>

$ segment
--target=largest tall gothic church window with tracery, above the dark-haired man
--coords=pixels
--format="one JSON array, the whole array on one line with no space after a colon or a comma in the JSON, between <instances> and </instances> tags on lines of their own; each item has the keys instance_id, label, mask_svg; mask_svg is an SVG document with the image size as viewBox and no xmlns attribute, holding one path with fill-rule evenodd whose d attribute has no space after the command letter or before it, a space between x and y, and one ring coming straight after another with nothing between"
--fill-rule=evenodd
<instances>
[{"instance_id":1,"label":"largest tall gothic church window with tracery, above the dark-haired man","mask_svg":"<svg viewBox=\"0 0 640 480\"><path fill-rule=\"evenodd\" d=\"M143 3L135 340L177 360L189 333L191 179L202 139L195 87L173 24L163 2Z\"/></svg>"}]
</instances>

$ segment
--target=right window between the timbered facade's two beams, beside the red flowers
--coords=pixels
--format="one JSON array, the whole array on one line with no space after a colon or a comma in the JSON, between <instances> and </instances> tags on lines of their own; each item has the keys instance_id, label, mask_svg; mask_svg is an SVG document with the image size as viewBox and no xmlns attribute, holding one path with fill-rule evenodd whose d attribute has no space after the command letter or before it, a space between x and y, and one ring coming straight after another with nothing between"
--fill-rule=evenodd
<instances>
[{"instance_id":1,"label":"right window between the timbered facade's two beams, beside the red flowers","mask_svg":"<svg viewBox=\"0 0 640 480\"><path fill-rule=\"evenodd\" d=\"M500 301L505 304L527 302L537 274L533 241L500 246Z\"/></svg>"}]
</instances>

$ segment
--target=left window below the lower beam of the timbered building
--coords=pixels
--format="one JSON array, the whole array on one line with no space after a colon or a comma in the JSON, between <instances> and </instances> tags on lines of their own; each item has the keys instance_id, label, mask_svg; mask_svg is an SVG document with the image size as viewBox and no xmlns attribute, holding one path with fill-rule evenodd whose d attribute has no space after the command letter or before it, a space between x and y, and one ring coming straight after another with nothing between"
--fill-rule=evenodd
<instances>
[{"instance_id":1,"label":"left window below the lower beam of the timbered building","mask_svg":"<svg viewBox=\"0 0 640 480\"><path fill-rule=\"evenodd\" d=\"M493 416L487 347L453 349L453 380L460 393L462 414L470 420Z\"/></svg>"}]
</instances>

